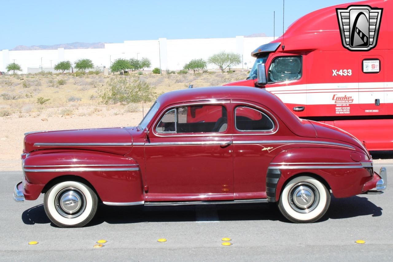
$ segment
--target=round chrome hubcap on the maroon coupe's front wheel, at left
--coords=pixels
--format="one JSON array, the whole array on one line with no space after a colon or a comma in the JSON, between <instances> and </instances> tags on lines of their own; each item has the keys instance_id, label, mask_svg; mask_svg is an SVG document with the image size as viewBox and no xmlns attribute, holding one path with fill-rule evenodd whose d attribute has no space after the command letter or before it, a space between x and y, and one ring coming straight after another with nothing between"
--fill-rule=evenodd
<instances>
[{"instance_id":1,"label":"round chrome hubcap on the maroon coupe's front wheel, at left","mask_svg":"<svg viewBox=\"0 0 393 262\"><path fill-rule=\"evenodd\" d=\"M77 188L68 187L60 190L55 197L57 212L66 218L75 218L83 213L86 199Z\"/></svg>"}]
</instances>

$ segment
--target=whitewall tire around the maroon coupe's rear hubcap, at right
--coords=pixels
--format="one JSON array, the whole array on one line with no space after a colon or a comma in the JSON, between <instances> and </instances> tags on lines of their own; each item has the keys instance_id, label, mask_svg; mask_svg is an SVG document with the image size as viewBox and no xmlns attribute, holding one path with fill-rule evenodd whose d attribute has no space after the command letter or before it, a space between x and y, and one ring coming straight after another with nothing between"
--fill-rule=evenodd
<instances>
[{"instance_id":1,"label":"whitewall tire around the maroon coupe's rear hubcap, at right","mask_svg":"<svg viewBox=\"0 0 393 262\"><path fill-rule=\"evenodd\" d=\"M296 188L305 185L313 191L312 208L297 208L296 203L292 201L292 193ZM300 193L301 194L301 193ZM311 198L311 197L309 197ZM301 176L289 181L283 189L280 200L279 209L281 213L290 221L295 223L310 223L319 220L327 211L330 205L330 192L326 186L313 177Z\"/></svg>"}]
</instances>

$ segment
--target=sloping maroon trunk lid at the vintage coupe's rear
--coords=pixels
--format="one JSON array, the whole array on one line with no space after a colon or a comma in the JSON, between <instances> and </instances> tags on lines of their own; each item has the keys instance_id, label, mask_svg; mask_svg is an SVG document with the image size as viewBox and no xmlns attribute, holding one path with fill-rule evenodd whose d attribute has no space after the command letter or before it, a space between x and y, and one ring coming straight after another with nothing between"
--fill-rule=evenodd
<instances>
[{"instance_id":1,"label":"sloping maroon trunk lid at the vintage coupe's rear","mask_svg":"<svg viewBox=\"0 0 393 262\"><path fill-rule=\"evenodd\" d=\"M317 138L328 138L328 139L334 139L334 140L339 140L345 143L349 143L353 146L355 146L356 150L362 151L365 153L369 158L371 158L369 152L365 148L364 144L360 142L356 137L351 135L350 133L338 128L334 127L332 125L324 124L321 122L316 122L309 120L310 123L314 126L315 131L316 131L316 137Z\"/></svg>"}]
</instances>

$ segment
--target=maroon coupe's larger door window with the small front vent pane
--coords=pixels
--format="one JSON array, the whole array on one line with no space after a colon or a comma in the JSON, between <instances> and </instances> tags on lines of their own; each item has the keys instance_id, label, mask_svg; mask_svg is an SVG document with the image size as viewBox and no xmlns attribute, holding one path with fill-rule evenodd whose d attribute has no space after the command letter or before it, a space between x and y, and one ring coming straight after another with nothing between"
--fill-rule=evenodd
<instances>
[{"instance_id":1,"label":"maroon coupe's larger door window with the small front vent pane","mask_svg":"<svg viewBox=\"0 0 393 262\"><path fill-rule=\"evenodd\" d=\"M158 133L220 133L228 127L222 105L189 105L167 111L156 127Z\"/></svg>"}]
</instances>

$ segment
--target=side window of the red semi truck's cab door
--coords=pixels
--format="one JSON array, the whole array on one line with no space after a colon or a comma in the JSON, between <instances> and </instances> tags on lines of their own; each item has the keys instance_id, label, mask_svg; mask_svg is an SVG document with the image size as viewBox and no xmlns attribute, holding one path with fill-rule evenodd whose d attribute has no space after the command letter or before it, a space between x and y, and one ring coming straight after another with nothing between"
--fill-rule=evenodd
<instances>
[{"instance_id":1,"label":"side window of the red semi truck's cab door","mask_svg":"<svg viewBox=\"0 0 393 262\"><path fill-rule=\"evenodd\" d=\"M301 55L276 57L269 67L268 81L281 82L301 77Z\"/></svg>"}]
</instances>

